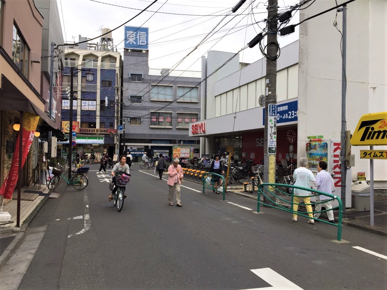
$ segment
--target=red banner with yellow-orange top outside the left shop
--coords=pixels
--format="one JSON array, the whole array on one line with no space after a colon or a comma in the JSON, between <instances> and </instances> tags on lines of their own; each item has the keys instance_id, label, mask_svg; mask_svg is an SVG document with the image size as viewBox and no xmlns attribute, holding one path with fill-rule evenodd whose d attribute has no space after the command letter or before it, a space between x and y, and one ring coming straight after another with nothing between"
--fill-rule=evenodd
<instances>
[{"instance_id":1,"label":"red banner with yellow-orange top outside the left shop","mask_svg":"<svg viewBox=\"0 0 387 290\"><path fill-rule=\"evenodd\" d=\"M23 114L23 144L22 144L22 168L26 162L29 148L31 148L32 141L34 139L34 133L36 126L38 126L39 116L24 112ZM20 131L19 131L20 133ZM2 187L0 188L0 195L4 195L4 198L11 199L14 192L17 179L19 177L19 134L16 139L14 157L12 158L11 169L5 178Z\"/></svg>"}]
</instances>

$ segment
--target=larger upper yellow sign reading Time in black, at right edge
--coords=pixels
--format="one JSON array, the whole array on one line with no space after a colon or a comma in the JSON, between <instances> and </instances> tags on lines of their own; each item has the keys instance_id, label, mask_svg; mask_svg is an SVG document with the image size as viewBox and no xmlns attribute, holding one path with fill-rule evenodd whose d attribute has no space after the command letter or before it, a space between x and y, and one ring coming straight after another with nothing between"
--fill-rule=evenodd
<instances>
[{"instance_id":1,"label":"larger upper yellow sign reading Time in black, at right edge","mask_svg":"<svg viewBox=\"0 0 387 290\"><path fill-rule=\"evenodd\" d=\"M387 145L387 112L361 116L353 132L351 145Z\"/></svg>"}]
</instances>

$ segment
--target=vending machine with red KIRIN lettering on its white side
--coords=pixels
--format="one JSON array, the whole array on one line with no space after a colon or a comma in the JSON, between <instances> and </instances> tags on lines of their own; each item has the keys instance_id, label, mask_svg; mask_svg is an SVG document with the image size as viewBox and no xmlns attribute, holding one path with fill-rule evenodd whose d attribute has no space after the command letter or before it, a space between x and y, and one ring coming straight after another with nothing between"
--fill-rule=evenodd
<instances>
[{"instance_id":1,"label":"vending machine with red KIRIN lettering on its white side","mask_svg":"<svg viewBox=\"0 0 387 290\"><path fill-rule=\"evenodd\" d=\"M320 161L327 162L327 171L334 180L335 192L332 193L341 197L341 168L340 168L340 140L314 138L309 139L306 145L306 156L308 159L308 169L317 174L317 165ZM343 162L344 164L344 162ZM346 175L346 208L351 207L351 169L347 169ZM311 198L312 201L313 198ZM336 201L332 201L332 206L337 206Z\"/></svg>"}]
</instances>

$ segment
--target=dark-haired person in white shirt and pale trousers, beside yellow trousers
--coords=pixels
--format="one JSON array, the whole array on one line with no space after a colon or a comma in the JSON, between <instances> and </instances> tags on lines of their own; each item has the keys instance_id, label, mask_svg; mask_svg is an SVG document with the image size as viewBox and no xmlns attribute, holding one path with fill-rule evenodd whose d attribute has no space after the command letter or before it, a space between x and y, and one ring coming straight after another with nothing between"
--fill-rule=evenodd
<instances>
[{"instance_id":1,"label":"dark-haired person in white shirt and pale trousers, beside yellow trousers","mask_svg":"<svg viewBox=\"0 0 387 290\"><path fill-rule=\"evenodd\" d=\"M332 177L330 176L329 172L326 171L328 165L325 161L320 161L317 165L317 173L316 175L316 184L317 184L317 190L326 192L329 194L332 194ZM327 209L327 216L330 223L335 223L335 218L333 216L333 210L332 205L330 204L330 197L325 195L319 195L316 197L316 204L315 204L315 218L320 217L320 210L322 206L325 206L325 209ZM328 200L328 201L325 201ZM325 201L324 203L319 203ZM318 222L318 220L317 220Z\"/></svg>"}]
</instances>

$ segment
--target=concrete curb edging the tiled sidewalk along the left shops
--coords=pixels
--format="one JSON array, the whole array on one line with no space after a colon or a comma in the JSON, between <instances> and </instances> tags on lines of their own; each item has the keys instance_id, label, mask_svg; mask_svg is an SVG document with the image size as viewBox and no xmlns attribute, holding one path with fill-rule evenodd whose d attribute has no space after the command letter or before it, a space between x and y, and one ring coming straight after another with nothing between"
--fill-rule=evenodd
<instances>
[{"instance_id":1,"label":"concrete curb edging the tiled sidewalk along the left shops","mask_svg":"<svg viewBox=\"0 0 387 290\"><path fill-rule=\"evenodd\" d=\"M60 185L60 183L62 183L62 179L60 179L60 182L57 184L55 188L57 188ZM9 234L11 232L17 232L15 238L8 245L7 249L5 249L4 252L0 255L0 269L2 268L3 264L5 264L8 261L8 258L14 251L15 247L19 244L22 237L24 237L24 234L26 234L29 225L33 222L34 218L36 217L36 215L38 215L38 213L40 212L43 205L45 205L47 200L48 200L48 196L45 196L41 201L40 205L36 206L34 211L27 217L27 222L24 222L21 228L12 227L9 229L5 229L4 231L0 231L0 234Z\"/></svg>"}]
</instances>

